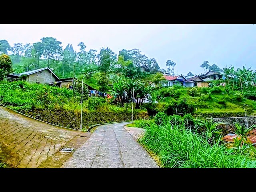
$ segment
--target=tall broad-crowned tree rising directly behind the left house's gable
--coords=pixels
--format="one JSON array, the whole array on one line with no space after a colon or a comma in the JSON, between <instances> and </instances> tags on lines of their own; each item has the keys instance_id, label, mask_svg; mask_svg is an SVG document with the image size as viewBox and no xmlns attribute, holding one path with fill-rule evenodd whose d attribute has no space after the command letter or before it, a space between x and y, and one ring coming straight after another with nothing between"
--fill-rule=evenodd
<instances>
[{"instance_id":1,"label":"tall broad-crowned tree rising directly behind the left house's gable","mask_svg":"<svg viewBox=\"0 0 256 192\"><path fill-rule=\"evenodd\" d=\"M62 47L60 46L61 42L53 37L43 37L41 38L41 41L44 50L42 55L47 59L48 67L50 67L50 60L54 59L54 54L62 50Z\"/></svg>"}]
</instances>

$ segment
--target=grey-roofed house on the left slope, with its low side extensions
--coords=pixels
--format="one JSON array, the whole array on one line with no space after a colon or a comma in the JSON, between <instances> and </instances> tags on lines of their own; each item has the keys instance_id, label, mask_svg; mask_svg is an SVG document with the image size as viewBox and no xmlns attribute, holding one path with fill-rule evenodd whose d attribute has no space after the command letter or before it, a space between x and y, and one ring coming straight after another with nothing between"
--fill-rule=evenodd
<instances>
[{"instance_id":1,"label":"grey-roofed house on the left slope, with its low side extensions","mask_svg":"<svg viewBox=\"0 0 256 192\"><path fill-rule=\"evenodd\" d=\"M50 68L45 67L41 69L31 70L19 74L7 74L6 76L7 80L17 80L19 78L23 78L23 80L26 80L30 83L41 83L41 84L48 84L48 85L56 85L60 88L66 87L68 88L68 85L73 84L73 78L65 78L60 79Z\"/></svg>"}]
</instances>

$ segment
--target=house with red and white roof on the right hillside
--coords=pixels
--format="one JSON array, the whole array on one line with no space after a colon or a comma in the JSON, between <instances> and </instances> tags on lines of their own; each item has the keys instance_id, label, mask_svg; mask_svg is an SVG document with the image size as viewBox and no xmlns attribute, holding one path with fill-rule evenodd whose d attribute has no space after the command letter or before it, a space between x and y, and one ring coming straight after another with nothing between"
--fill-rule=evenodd
<instances>
[{"instance_id":1,"label":"house with red and white roof on the right hillside","mask_svg":"<svg viewBox=\"0 0 256 192\"><path fill-rule=\"evenodd\" d=\"M177 75L177 76L170 76L170 75L164 75L164 78L168 80L167 86L173 86L175 84L185 86L185 87L193 87L194 83L193 81L188 81L183 75Z\"/></svg>"}]
</instances>

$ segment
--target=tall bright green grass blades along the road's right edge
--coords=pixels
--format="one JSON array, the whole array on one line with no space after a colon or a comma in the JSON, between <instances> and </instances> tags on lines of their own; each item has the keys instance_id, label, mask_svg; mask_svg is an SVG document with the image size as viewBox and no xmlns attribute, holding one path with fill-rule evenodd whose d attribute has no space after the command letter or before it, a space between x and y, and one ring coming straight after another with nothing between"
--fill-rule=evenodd
<instances>
[{"instance_id":1,"label":"tall bright green grass blades along the road's right edge","mask_svg":"<svg viewBox=\"0 0 256 192\"><path fill-rule=\"evenodd\" d=\"M140 142L158 154L165 168L246 168L255 167L249 153L233 153L219 140L209 144L206 136L184 125L150 124Z\"/></svg>"}]
</instances>

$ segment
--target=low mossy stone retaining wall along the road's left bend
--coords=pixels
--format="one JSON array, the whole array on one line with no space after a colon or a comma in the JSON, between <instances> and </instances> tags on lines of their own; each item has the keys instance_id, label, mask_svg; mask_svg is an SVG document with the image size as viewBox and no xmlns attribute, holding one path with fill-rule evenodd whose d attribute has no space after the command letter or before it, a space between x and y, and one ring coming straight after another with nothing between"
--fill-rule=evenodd
<instances>
[{"instance_id":1,"label":"low mossy stone retaining wall along the road's left bend","mask_svg":"<svg viewBox=\"0 0 256 192\"><path fill-rule=\"evenodd\" d=\"M33 118L73 129L80 129L81 113L69 112L66 110L43 110L34 109L21 111ZM148 119L147 112L134 113L134 120ZM83 127L94 124L122 122L132 120L132 114L124 112L83 112Z\"/></svg>"}]
</instances>

